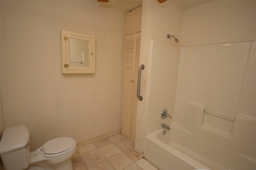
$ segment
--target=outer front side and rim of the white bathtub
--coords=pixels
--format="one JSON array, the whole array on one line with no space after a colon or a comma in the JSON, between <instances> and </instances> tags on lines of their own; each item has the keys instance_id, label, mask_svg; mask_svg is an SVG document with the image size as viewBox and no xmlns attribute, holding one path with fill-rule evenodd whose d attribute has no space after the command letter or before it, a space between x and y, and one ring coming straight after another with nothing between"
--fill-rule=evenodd
<instances>
[{"instance_id":1,"label":"outer front side and rim of the white bathtub","mask_svg":"<svg viewBox=\"0 0 256 170\"><path fill-rule=\"evenodd\" d=\"M204 164L194 160L190 156L182 153L180 150L168 145L170 141L162 134L164 129L159 129L154 133L146 136L144 141L144 157L154 164L160 170L194 170L194 169L210 169ZM177 129L172 128L170 131ZM175 132L174 132L175 133ZM166 140L164 139L166 138Z\"/></svg>"}]
</instances>

